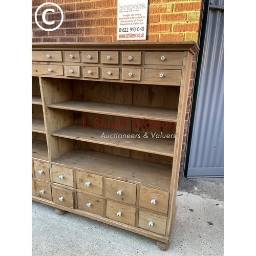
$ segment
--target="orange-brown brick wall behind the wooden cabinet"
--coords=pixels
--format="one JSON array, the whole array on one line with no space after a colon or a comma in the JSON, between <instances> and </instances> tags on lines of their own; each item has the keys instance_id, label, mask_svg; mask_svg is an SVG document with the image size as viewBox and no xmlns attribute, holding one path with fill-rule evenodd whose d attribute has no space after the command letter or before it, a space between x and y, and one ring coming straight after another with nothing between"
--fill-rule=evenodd
<instances>
[{"instance_id":1,"label":"orange-brown brick wall behind the wooden cabinet","mask_svg":"<svg viewBox=\"0 0 256 256\"><path fill-rule=\"evenodd\" d=\"M41 30L35 23L37 7L47 2L57 4L64 13L63 23L55 31ZM203 0L148 0L147 35L143 41L198 41L202 2ZM42 22L42 12L47 8L49 5L40 8L38 23L44 28L55 28L61 18L60 12L52 6L55 13L48 12L46 19L48 22L56 20L55 24L45 25ZM32 0L32 42L116 42L116 16L117 0ZM187 102L181 172L184 167L195 67L196 56Z\"/></svg>"}]
</instances>

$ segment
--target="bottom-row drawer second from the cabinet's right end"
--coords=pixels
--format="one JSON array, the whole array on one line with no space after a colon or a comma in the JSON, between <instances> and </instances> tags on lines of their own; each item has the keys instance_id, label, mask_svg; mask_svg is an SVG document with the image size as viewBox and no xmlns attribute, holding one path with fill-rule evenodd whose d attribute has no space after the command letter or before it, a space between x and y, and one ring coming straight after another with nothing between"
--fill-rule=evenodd
<instances>
[{"instance_id":1,"label":"bottom-row drawer second from the cabinet's right end","mask_svg":"<svg viewBox=\"0 0 256 256\"><path fill-rule=\"evenodd\" d=\"M135 212L136 208L133 206L106 201L106 218L135 226Z\"/></svg>"}]
</instances>

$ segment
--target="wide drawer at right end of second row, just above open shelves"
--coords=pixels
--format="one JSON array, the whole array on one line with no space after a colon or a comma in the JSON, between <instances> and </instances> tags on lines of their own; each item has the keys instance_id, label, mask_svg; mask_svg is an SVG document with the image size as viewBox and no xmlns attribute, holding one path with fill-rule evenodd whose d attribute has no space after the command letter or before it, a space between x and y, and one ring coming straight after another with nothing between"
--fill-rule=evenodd
<instances>
[{"instance_id":1,"label":"wide drawer at right end of second row, just above open shelves","mask_svg":"<svg viewBox=\"0 0 256 256\"><path fill-rule=\"evenodd\" d=\"M144 81L180 83L181 70L145 69Z\"/></svg>"}]
</instances>

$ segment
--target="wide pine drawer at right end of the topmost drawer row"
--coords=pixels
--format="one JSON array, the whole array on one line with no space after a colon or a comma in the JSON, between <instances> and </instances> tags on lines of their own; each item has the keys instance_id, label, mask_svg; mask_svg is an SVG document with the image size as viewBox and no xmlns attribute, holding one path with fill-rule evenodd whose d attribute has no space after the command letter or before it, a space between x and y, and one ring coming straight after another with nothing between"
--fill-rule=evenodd
<instances>
[{"instance_id":1,"label":"wide pine drawer at right end of the topmost drawer row","mask_svg":"<svg viewBox=\"0 0 256 256\"><path fill-rule=\"evenodd\" d=\"M180 65L183 63L183 52L146 52L145 65Z\"/></svg>"}]
</instances>

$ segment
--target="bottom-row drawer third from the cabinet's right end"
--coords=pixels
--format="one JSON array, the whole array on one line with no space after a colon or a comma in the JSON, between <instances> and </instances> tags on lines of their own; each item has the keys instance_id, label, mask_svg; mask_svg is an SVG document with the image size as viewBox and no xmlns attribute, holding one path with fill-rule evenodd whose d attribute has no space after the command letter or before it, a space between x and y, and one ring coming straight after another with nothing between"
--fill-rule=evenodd
<instances>
[{"instance_id":1,"label":"bottom-row drawer third from the cabinet's right end","mask_svg":"<svg viewBox=\"0 0 256 256\"><path fill-rule=\"evenodd\" d=\"M90 211L93 214L104 215L105 199L86 195L77 192L77 207L78 209Z\"/></svg>"}]
</instances>

